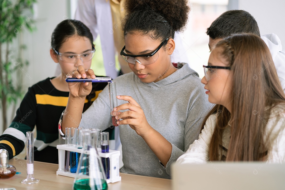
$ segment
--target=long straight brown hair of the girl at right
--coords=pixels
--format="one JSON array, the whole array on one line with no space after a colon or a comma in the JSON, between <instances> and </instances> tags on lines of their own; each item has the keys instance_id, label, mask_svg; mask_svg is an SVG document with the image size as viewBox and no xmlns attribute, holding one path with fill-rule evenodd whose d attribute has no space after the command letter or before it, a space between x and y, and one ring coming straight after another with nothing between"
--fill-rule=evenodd
<instances>
[{"instance_id":1,"label":"long straight brown hair of the girl at right","mask_svg":"<svg viewBox=\"0 0 285 190\"><path fill-rule=\"evenodd\" d=\"M209 145L209 159L219 160L223 131L231 126L226 161L265 159L269 148L263 140L270 110L285 102L272 56L263 40L254 34L236 34L219 41L219 56L225 58L233 73L232 112L215 105L206 116L217 114ZM262 119L261 119L262 118Z\"/></svg>"}]
</instances>

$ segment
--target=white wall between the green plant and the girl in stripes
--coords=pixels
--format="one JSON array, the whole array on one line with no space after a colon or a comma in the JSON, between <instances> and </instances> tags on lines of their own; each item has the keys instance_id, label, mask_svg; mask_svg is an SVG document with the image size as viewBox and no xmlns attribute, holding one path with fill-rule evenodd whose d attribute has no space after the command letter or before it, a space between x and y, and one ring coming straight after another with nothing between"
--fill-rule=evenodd
<instances>
[{"instance_id":1,"label":"white wall between the green plant and the girl in stripes","mask_svg":"<svg viewBox=\"0 0 285 190\"><path fill-rule=\"evenodd\" d=\"M51 34L58 23L69 17L68 13L70 11L67 11L68 6L68 0L40 0L34 6L34 15L30 15L29 13L29 17L35 21L36 31L29 33L24 30L23 32L23 43L27 46L27 50L24 51L24 58L29 61L29 66L22 71L23 73L25 72L23 76L23 89L26 89L26 91L34 83L54 76L56 63L50 58L49 52ZM17 40L15 44L17 44ZM14 46L17 46L15 44ZM19 107L19 103L17 108ZM0 114L0 134L2 134L2 109L0 110ZM11 113L11 109L8 110L8 126L11 122L11 117L14 116L15 113Z\"/></svg>"}]
</instances>

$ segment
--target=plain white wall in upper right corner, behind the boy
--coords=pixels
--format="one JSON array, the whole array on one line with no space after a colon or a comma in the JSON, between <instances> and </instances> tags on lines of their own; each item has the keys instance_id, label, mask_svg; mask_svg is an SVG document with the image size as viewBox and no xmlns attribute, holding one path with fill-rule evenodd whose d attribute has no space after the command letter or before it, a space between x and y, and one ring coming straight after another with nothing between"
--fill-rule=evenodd
<instances>
[{"instance_id":1,"label":"plain white wall in upper right corner, behind the boy","mask_svg":"<svg viewBox=\"0 0 285 190\"><path fill-rule=\"evenodd\" d=\"M275 33L285 50L285 1L238 0L239 9L251 13L258 23L260 34Z\"/></svg>"}]
</instances>

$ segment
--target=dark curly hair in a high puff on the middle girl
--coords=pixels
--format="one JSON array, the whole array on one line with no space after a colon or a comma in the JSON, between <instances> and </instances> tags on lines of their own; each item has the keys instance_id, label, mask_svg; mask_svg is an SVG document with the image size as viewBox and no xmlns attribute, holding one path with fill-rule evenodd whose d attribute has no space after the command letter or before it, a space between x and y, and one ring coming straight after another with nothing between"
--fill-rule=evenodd
<instances>
[{"instance_id":1,"label":"dark curly hair in a high puff on the middle girl","mask_svg":"<svg viewBox=\"0 0 285 190\"><path fill-rule=\"evenodd\" d=\"M141 32L161 42L183 31L190 11L187 0L126 0L124 5L124 36Z\"/></svg>"}]
</instances>

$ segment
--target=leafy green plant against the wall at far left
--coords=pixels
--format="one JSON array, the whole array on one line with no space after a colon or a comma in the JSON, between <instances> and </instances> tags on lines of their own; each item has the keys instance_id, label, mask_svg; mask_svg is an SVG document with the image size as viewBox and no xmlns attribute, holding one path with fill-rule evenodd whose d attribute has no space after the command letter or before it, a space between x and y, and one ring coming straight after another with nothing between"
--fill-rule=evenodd
<instances>
[{"instance_id":1,"label":"leafy green plant against the wall at far left","mask_svg":"<svg viewBox=\"0 0 285 190\"><path fill-rule=\"evenodd\" d=\"M11 48L13 42L19 39L23 28L33 30L32 5L36 0L0 0L0 107L2 109L3 130L7 128L7 109L17 103L22 97L22 83L20 68L28 64L23 60L21 52L25 46L19 43L18 50ZM15 55L15 52L18 52ZM13 76L15 76L13 78ZM15 112L15 108L13 109Z\"/></svg>"}]
</instances>

